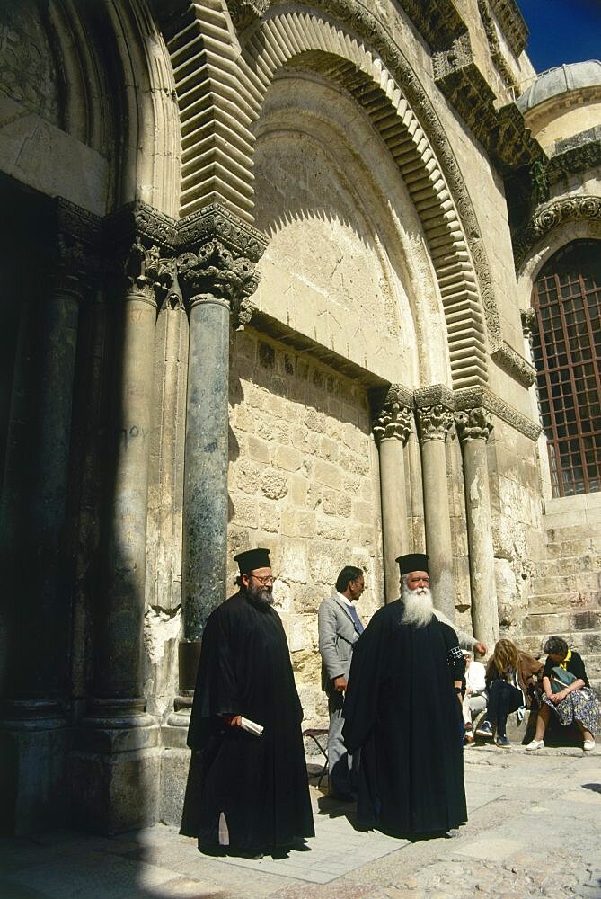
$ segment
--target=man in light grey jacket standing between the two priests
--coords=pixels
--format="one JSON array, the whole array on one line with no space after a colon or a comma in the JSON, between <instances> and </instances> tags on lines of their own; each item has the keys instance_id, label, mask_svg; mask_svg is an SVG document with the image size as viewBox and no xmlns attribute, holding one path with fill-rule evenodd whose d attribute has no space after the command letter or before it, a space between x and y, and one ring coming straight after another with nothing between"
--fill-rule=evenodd
<instances>
[{"instance_id":1,"label":"man in light grey jacket standing between the two priests","mask_svg":"<svg viewBox=\"0 0 601 899\"><path fill-rule=\"evenodd\" d=\"M330 796L352 802L357 798L358 757L342 743L342 706L347 689L353 646L363 625L353 605L365 590L361 568L345 565L336 581L336 592L323 600L318 612L319 651L322 656L322 689L328 697L330 729L328 761Z\"/></svg>"}]
</instances>

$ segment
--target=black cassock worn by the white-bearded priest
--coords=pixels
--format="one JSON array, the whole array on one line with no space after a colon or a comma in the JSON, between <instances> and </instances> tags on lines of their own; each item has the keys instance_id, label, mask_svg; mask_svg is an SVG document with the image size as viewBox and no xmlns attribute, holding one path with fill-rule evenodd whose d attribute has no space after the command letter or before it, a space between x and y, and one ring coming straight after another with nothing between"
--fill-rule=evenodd
<instances>
[{"instance_id":1,"label":"black cassock worn by the white-bearded priest","mask_svg":"<svg viewBox=\"0 0 601 899\"><path fill-rule=\"evenodd\" d=\"M461 706L465 664L453 628L401 623L402 601L376 611L355 644L344 743L361 749L358 821L398 835L467 820Z\"/></svg>"}]
</instances>

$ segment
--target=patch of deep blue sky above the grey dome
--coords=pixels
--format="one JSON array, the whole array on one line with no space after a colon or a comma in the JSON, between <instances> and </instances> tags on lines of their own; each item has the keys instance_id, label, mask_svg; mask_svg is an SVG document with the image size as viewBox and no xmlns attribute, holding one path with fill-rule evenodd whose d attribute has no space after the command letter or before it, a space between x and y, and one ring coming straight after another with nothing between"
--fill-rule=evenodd
<instances>
[{"instance_id":1,"label":"patch of deep blue sky above the grey dome","mask_svg":"<svg viewBox=\"0 0 601 899\"><path fill-rule=\"evenodd\" d=\"M537 72L601 59L601 0L517 0L530 30L526 53Z\"/></svg>"}]
</instances>

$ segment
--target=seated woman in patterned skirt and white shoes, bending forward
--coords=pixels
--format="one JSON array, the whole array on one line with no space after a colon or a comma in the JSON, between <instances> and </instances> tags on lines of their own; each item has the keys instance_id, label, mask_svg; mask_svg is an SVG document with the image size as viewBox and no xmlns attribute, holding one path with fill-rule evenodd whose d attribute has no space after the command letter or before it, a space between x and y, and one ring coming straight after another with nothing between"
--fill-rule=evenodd
<instances>
[{"instance_id":1,"label":"seated woman in patterned skirt and white shoes, bending forward","mask_svg":"<svg viewBox=\"0 0 601 899\"><path fill-rule=\"evenodd\" d=\"M582 748L585 752L591 752L595 749L594 734L599 724L599 704L593 691L590 690L584 662L575 650L568 647L561 636L550 636L544 644L543 651L547 654L543 672L543 705L539 708L536 718L535 739L528 743L526 750L533 752L544 746L544 731L552 710L561 725L576 722L584 740ZM553 692L553 681L556 681L553 674L555 667L574 676L569 685L562 688L558 685L558 692Z\"/></svg>"}]
</instances>

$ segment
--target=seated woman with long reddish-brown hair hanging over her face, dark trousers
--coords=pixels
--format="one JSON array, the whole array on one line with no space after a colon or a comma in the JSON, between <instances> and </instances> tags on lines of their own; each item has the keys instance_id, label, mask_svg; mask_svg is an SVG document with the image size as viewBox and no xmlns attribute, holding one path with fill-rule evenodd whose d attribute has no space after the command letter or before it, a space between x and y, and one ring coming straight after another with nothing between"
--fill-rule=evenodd
<instances>
[{"instance_id":1,"label":"seated woman with long reddish-brown hair hanging over her face, dark trousers","mask_svg":"<svg viewBox=\"0 0 601 899\"><path fill-rule=\"evenodd\" d=\"M489 700L486 719L476 734L492 737L496 725L495 743L501 749L509 749L506 733L507 719L511 712L526 706L526 698L517 677L517 646L511 640L499 640L486 666L486 690Z\"/></svg>"}]
</instances>

